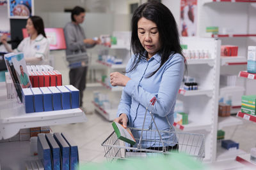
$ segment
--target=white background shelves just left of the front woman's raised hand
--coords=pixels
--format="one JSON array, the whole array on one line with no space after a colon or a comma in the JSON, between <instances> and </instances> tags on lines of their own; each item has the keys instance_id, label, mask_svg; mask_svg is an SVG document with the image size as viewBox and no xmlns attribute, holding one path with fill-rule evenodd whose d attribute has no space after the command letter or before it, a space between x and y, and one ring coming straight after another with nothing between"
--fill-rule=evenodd
<instances>
[{"instance_id":1,"label":"white background shelves just left of the front woman's raised hand","mask_svg":"<svg viewBox=\"0 0 256 170\"><path fill-rule=\"evenodd\" d=\"M103 66L106 66L107 71L107 75L109 76L109 74L111 72L114 71L118 71L120 73L122 73L122 71L125 71L125 67L126 64L128 62L128 60L130 59L130 53L129 53L129 46L127 45L111 45L109 50L115 50L115 54L118 56L118 58L122 58L123 59L123 63L122 64L112 64L109 62L104 62L101 60L98 60L97 62L99 64L102 64ZM121 92L123 90L123 87L112 87L109 84L106 84L104 82L102 82L101 80L97 80L97 82L101 83L103 87L106 87L106 89L110 90L111 92L115 92L116 94L116 103L119 102L120 97L121 97ZM94 101L92 101L92 103L95 106L95 111L97 111L98 113L100 113L100 115L102 115L104 118L106 118L106 120L109 121L113 121L116 118L116 113L117 113L117 108L111 108L109 110L106 110L104 108L102 108L101 106L99 106L99 104L95 103Z\"/></svg>"}]
</instances>

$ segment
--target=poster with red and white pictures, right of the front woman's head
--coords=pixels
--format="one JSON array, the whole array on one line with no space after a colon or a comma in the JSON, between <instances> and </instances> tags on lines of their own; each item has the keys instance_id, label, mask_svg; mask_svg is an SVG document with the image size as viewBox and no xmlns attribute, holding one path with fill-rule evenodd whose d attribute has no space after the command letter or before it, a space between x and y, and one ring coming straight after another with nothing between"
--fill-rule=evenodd
<instances>
[{"instance_id":1,"label":"poster with red and white pictures, right of the front woman's head","mask_svg":"<svg viewBox=\"0 0 256 170\"><path fill-rule=\"evenodd\" d=\"M197 0L180 1L180 35L196 36Z\"/></svg>"}]
</instances>

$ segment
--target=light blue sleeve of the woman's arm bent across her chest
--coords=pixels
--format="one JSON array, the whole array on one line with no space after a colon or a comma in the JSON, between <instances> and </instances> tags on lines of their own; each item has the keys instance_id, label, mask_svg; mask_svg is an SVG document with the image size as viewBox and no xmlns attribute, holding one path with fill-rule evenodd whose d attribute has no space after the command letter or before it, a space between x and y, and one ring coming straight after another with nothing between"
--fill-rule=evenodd
<instances>
[{"instance_id":1,"label":"light blue sleeve of the woman's arm bent across her chest","mask_svg":"<svg viewBox=\"0 0 256 170\"><path fill-rule=\"evenodd\" d=\"M147 92L134 80L129 80L123 91L133 97L145 108L148 106L148 101L153 97L156 97L156 103L148 109L160 117L165 117L170 113L175 104L180 84L182 82L183 73L183 57L181 55L173 55L173 59L170 59L164 68L157 94Z\"/></svg>"}]
</instances>

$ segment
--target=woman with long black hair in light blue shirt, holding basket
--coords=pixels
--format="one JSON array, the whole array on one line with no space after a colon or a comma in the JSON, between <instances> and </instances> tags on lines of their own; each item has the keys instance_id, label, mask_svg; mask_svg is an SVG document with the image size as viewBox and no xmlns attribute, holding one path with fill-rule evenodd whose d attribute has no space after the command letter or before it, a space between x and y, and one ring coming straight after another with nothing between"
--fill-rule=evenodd
<instances>
[{"instance_id":1,"label":"woman with long black hair in light blue shirt, holding basket","mask_svg":"<svg viewBox=\"0 0 256 170\"><path fill-rule=\"evenodd\" d=\"M173 124L173 110L186 70L175 18L161 3L145 3L134 11L131 26L131 48L134 55L127 64L126 74L110 74L111 85L124 87L118 117L114 121L124 127L141 129L150 99L156 97L156 103L148 110L154 114L158 129L174 131L170 125ZM145 119L145 128L156 129L149 114ZM139 138L140 133L134 134L134 137ZM174 134L161 137L173 141L167 146L177 149ZM157 134L151 138L159 139L159 136ZM144 142L141 146L156 150L162 147L154 142Z\"/></svg>"}]
</instances>

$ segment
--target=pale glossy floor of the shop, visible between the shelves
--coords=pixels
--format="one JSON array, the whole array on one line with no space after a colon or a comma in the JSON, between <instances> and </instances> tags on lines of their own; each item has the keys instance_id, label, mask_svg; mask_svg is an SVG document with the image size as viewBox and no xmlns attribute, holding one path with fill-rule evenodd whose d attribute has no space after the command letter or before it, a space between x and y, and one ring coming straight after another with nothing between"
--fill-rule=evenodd
<instances>
[{"instance_id":1,"label":"pale glossy floor of the shop, visible between the shelves","mask_svg":"<svg viewBox=\"0 0 256 170\"><path fill-rule=\"evenodd\" d=\"M61 53L61 52L58 52ZM68 84L68 68L63 57L55 60L54 67L63 74L63 84ZM93 90L108 90L100 87L88 87L84 91L84 108L92 115L86 115L88 122L79 124L67 124L51 127L53 132L67 132L76 141L79 146L79 159L81 162L102 162L104 159L104 148L101 143L113 131L111 122L103 118L99 113L94 112ZM118 92L109 92L110 96L116 96ZM244 120L243 125L237 127L225 127L226 139L232 139L239 142L240 148L249 153L250 148L256 144L256 124ZM237 169L237 162L215 162L214 167L217 169ZM234 165L234 166L233 166ZM215 169L215 168L214 168Z\"/></svg>"}]
</instances>

